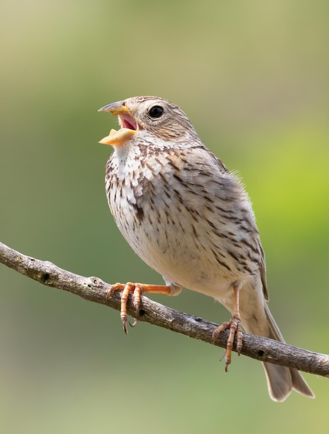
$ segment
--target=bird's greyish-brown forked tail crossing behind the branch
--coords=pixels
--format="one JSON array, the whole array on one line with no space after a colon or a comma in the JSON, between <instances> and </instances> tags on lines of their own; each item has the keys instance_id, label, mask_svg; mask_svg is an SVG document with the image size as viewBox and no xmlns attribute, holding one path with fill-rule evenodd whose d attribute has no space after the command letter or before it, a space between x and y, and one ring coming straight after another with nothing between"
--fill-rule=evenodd
<instances>
[{"instance_id":1,"label":"bird's greyish-brown forked tail crossing behind the branch","mask_svg":"<svg viewBox=\"0 0 329 434\"><path fill-rule=\"evenodd\" d=\"M265 312L270 329L270 336L268 337L280 342L285 342L267 304L265 304ZM263 363L263 365L265 367L269 395L274 401L284 401L289 396L292 389L305 395L305 397L314 398L314 393L308 387L308 383L303 379L301 372L291 367L274 365L273 363L266 362Z\"/></svg>"}]
</instances>

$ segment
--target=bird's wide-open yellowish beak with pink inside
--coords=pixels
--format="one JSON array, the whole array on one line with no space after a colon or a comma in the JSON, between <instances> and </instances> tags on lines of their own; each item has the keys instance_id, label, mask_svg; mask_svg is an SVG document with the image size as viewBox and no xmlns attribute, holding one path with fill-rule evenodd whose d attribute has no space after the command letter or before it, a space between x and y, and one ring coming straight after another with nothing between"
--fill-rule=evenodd
<instances>
[{"instance_id":1,"label":"bird's wide-open yellowish beak with pink inside","mask_svg":"<svg viewBox=\"0 0 329 434\"><path fill-rule=\"evenodd\" d=\"M105 105L105 107L100 108L98 112L110 112L114 116L118 115L119 124L121 126L118 131L112 129L107 137L99 141L100 144L121 146L139 130L139 125L134 119L134 116L132 116L130 110L125 107L125 101Z\"/></svg>"}]
</instances>

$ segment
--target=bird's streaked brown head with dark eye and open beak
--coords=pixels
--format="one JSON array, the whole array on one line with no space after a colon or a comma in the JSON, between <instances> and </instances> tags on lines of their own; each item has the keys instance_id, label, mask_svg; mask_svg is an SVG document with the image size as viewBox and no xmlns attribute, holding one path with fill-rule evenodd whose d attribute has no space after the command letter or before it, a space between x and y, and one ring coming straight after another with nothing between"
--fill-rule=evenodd
<instances>
[{"instance_id":1,"label":"bird's streaked brown head with dark eye and open beak","mask_svg":"<svg viewBox=\"0 0 329 434\"><path fill-rule=\"evenodd\" d=\"M122 146L130 139L160 139L163 143L197 137L188 116L177 105L156 96L134 96L102 107L99 112L118 116L120 130L111 130L100 144Z\"/></svg>"}]
</instances>

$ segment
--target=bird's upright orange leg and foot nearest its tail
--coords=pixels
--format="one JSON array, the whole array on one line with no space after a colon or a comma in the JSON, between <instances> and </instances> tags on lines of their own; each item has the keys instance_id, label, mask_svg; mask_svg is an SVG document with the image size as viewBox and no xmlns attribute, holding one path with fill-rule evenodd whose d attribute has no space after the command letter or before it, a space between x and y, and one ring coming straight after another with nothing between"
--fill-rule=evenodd
<instances>
[{"instance_id":1,"label":"bird's upright orange leg and foot nearest its tail","mask_svg":"<svg viewBox=\"0 0 329 434\"><path fill-rule=\"evenodd\" d=\"M242 328L241 328L241 318L240 318L240 310L239 310L239 293L240 293L241 285L238 282L233 284L233 292L234 292L234 310L231 320L223 322L219 327L217 327L213 331L213 342L218 338L221 331L229 329L229 338L226 341L226 349L224 352L225 356L225 372L227 372L229 368L229 364L231 363L231 354L233 349L234 337L236 336L236 351L240 356L240 352L242 349Z\"/></svg>"}]
</instances>

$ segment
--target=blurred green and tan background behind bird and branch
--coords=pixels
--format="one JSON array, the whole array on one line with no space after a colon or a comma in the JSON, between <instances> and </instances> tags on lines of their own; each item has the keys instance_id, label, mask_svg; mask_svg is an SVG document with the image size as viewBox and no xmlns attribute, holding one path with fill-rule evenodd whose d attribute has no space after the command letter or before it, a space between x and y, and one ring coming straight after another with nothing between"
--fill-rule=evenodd
<instances>
[{"instance_id":1,"label":"blurred green and tan background behind bird and branch","mask_svg":"<svg viewBox=\"0 0 329 434\"><path fill-rule=\"evenodd\" d=\"M270 306L287 340L328 340L329 105L326 1L2 0L1 241L105 281L161 284L107 208L99 107L155 94L190 116L238 170L267 254ZM317 394L267 395L260 363L140 323L0 267L3 433L307 433L328 426ZM155 296L221 322L184 290Z\"/></svg>"}]
</instances>

